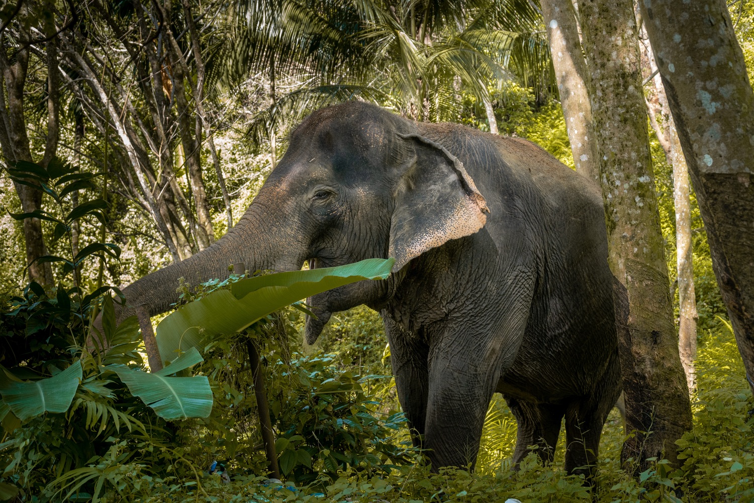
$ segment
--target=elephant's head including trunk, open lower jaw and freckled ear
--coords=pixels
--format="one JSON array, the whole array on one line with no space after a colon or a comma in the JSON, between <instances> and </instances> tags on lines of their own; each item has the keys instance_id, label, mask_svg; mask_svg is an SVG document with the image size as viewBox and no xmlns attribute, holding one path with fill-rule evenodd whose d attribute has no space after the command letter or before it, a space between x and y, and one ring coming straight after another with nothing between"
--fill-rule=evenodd
<instances>
[{"instance_id":1,"label":"elephant's head including trunk, open lower jaw and freckled ear","mask_svg":"<svg viewBox=\"0 0 754 503\"><path fill-rule=\"evenodd\" d=\"M150 314L176 300L178 278L192 284L228 274L228 265L278 271L309 260L329 267L395 257L387 281L363 281L310 299L317 339L333 311L379 305L397 273L426 250L477 232L486 202L455 156L379 107L345 103L309 115L237 225L216 244L124 289ZM128 313L121 314L120 317Z\"/></svg>"}]
</instances>

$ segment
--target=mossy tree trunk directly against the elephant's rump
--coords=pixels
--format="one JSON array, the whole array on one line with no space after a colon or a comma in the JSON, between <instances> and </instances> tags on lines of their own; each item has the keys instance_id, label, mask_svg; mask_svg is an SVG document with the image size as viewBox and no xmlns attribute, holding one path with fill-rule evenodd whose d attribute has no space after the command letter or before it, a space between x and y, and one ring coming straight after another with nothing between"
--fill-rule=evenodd
<instances>
[{"instance_id":1,"label":"mossy tree trunk directly against the elephant's rump","mask_svg":"<svg viewBox=\"0 0 754 503\"><path fill-rule=\"evenodd\" d=\"M616 326L626 398L621 459L677 465L675 441L691 429L654 192L639 39L630 0L580 0L608 262L617 278Z\"/></svg>"}]
</instances>

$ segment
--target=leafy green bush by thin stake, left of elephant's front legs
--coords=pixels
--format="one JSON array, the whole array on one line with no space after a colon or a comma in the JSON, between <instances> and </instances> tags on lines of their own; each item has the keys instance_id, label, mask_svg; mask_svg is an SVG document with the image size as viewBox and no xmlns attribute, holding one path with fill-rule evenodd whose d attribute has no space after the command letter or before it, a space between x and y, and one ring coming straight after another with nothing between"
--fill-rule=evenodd
<instances>
[{"instance_id":1,"label":"leafy green bush by thin stake, left of elephant's front legs","mask_svg":"<svg viewBox=\"0 0 754 503\"><path fill-rule=\"evenodd\" d=\"M270 409L280 471L296 483L336 480L348 468L389 474L415 452L401 431L403 413L379 418L379 398L366 389L369 381L390 376L358 376L332 363L329 356L299 357L273 367L290 379L290 388L270 395Z\"/></svg>"}]
</instances>

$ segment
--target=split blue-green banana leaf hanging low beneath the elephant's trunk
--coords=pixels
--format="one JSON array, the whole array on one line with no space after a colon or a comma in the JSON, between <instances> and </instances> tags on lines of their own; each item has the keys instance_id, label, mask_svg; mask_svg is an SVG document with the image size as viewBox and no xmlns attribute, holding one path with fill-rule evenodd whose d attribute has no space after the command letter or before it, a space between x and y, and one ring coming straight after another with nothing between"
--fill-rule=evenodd
<instances>
[{"instance_id":1,"label":"split blue-green banana leaf hanging low beneath the elephant's trunk","mask_svg":"<svg viewBox=\"0 0 754 503\"><path fill-rule=\"evenodd\" d=\"M206 418L212 411L212 389L207 376L168 377L204 361L196 348L180 355L164 369L147 373L125 365L108 365L136 397L162 419Z\"/></svg>"}]
</instances>

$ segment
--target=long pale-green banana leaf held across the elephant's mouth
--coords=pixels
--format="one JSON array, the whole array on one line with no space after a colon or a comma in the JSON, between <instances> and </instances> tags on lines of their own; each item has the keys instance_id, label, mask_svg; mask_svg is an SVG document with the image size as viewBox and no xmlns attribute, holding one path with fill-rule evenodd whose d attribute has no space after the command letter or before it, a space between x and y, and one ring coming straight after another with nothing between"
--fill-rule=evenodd
<instances>
[{"instance_id":1,"label":"long pale-green banana leaf held across the elephant's mouth","mask_svg":"<svg viewBox=\"0 0 754 503\"><path fill-rule=\"evenodd\" d=\"M165 317L157 326L163 359L196 347L200 330L213 335L244 330L277 309L326 290L362 280L384 280L395 259L367 259L338 267L279 272L238 281Z\"/></svg>"}]
</instances>

